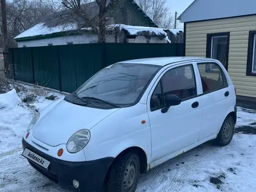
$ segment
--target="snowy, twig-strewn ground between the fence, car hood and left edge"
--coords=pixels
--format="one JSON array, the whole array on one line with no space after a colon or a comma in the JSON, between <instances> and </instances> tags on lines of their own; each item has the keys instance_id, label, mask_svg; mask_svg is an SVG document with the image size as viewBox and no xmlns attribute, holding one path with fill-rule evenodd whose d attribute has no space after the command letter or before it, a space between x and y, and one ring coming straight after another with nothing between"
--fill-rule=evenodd
<instances>
[{"instance_id":1,"label":"snowy, twig-strewn ground between the fence, car hood and left edge","mask_svg":"<svg viewBox=\"0 0 256 192\"><path fill-rule=\"evenodd\" d=\"M29 89L29 86L24 86L23 88ZM44 95L35 98L33 104L27 103L27 105L22 102L22 99L31 97L30 92L44 91ZM41 94L42 95L42 94ZM21 149L21 140L26 131L26 127L29 125L30 120L33 118L35 110L40 111L45 106L54 102L52 100L46 99L52 95L49 91L37 89L31 89L31 91L20 91L19 96L16 90L13 88L6 94L0 94L0 155L12 151ZM62 98L62 94L55 93L55 99ZM34 109L34 110L31 110ZM1 189L1 187L0 187Z\"/></svg>"}]
</instances>

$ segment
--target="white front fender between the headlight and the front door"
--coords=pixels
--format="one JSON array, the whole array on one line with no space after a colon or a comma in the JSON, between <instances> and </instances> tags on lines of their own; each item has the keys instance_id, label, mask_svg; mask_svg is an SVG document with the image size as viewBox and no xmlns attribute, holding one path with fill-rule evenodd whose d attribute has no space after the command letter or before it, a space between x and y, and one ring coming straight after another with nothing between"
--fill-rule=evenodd
<instances>
[{"instance_id":1,"label":"white front fender between the headlight and the front door","mask_svg":"<svg viewBox=\"0 0 256 192\"><path fill-rule=\"evenodd\" d=\"M141 123L143 120L145 123ZM150 120L145 104L121 108L90 131L90 141L84 148L87 161L116 158L130 147L140 147L151 161Z\"/></svg>"}]
</instances>

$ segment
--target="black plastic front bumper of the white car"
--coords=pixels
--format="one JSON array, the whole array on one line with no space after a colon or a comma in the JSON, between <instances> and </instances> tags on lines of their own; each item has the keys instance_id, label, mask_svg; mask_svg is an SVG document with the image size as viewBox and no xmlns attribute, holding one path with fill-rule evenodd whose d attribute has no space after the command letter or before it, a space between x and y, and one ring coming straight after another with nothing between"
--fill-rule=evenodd
<instances>
[{"instance_id":1,"label":"black plastic front bumper of the white car","mask_svg":"<svg viewBox=\"0 0 256 192\"><path fill-rule=\"evenodd\" d=\"M41 157L50 161L48 169L42 168L37 163L27 159L34 169L38 170L42 175L54 180L62 188L72 191L101 191L104 186L104 180L109 166L113 162L113 157L98 159L87 162L68 162L51 157L41 152L27 143L22 138L22 146L35 152ZM79 181L79 188L75 189L73 180Z\"/></svg>"}]
</instances>

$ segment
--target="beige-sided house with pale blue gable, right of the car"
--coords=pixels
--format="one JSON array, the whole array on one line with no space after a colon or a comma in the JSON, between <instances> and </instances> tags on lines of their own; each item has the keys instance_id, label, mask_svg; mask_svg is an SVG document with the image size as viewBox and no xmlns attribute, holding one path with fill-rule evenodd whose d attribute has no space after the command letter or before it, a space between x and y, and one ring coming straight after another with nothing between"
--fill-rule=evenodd
<instances>
[{"instance_id":1,"label":"beige-sided house with pale blue gable, right of the car","mask_svg":"<svg viewBox=\"0 0 256 192\"><path fill-rule=\"evenodd\" d=\"M178 19L184 22L186 56L221 61L238 103L256 106L256 1L195 0Z\"/></svg>"}]
</instances>

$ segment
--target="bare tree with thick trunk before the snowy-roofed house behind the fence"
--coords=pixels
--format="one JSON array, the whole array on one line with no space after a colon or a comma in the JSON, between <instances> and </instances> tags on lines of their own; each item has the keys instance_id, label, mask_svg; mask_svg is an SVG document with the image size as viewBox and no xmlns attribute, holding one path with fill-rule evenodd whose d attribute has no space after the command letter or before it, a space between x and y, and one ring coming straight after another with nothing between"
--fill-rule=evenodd
<instances>
[{"instance_id":1,"label":"bare tree with thick trunk before the snowy-roofed house behind the fence","mask_svg":"<svg viewBox=\"0 0 256 192\"><path fill-rule=\"evenodd\" d=\"M49 26L62 26L75 31L90 29L99 42L106 42L108 23L124 0L52 0L52 14L46 19ZM73 26L73 27L72 27ZM80 33L83 33L80 30Z\"/></svg>"}]
</instances>

